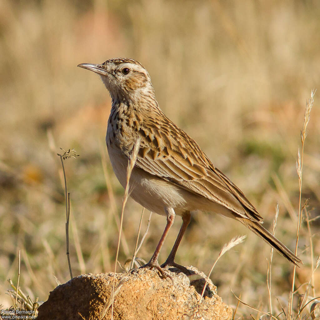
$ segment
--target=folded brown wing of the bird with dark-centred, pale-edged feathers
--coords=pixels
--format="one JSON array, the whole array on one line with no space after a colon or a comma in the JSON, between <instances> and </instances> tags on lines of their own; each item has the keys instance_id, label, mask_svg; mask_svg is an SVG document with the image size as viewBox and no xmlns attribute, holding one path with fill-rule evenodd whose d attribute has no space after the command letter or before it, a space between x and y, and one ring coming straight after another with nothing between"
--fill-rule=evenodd
<instances>
[{"instance_id":1,"label":"folded brown wing of the bird with dark-centred, pale-edged feathers","mask_svg":"<svg viewBox=\"0 0 320 320\"><path fill-rule=\"evenodd\" d=\"M236 217L262 222L263 218L240 189L168 118L149 119L138 133L142 139L137 167L225 206Z\"/></svg>"}]
</instances>

